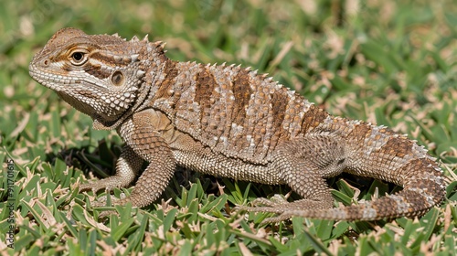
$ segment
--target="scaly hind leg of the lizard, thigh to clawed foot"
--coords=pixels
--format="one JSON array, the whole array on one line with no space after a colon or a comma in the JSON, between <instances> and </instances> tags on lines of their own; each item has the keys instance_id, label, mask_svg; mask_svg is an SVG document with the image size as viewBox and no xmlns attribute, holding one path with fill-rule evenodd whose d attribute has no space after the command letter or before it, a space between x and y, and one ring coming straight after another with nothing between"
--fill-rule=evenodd
<instances>
[{"instance_id":1,"label":"scaly hind leg of the lizard, thigh to clawed foot","mask_svg":"<svg viewBox=\"0 0 457 256\"><path fill-rule=\"evenodd\" d=\"M280 214L264 221L278 222L289 219L289 212L332 208L334 198L324 177L337 176L344 170L344 146L333 137L314 135L283 143L277 149L277 154L272 157L271 168L278 170L283 182L303 199L287 202L278 196L259 198L254 200L254 207L242 209Z\"/></svg>"}]
</instances>

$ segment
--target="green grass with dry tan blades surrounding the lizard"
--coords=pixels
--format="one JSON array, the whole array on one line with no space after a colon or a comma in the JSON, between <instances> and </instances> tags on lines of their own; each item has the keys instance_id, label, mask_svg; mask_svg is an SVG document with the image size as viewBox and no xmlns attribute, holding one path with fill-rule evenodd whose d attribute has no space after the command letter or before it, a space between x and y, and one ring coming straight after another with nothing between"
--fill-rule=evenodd
<instances>
[{"instance_id":1,"label":"green grass with dry tan blades surrounding the lizard","mask_svg":"<svg viewBox=\"0 0 457 256\"><path fill-rule=\"evenodd\" d=\"M5 1L0 8L0 250L10 254L452 255L457 250L457 5L443 1ZM303 5L300 5L303 3ZM310 4L311 3L311 4ZM313 4L314 3L314 4ZM111 174L122 140L31 80L28 61L61 27L164 40L168 56L269 72L327 112L408 133L441 161L447 199L421 219L334 222L234 215L236 204L286 194L179 170L162 198L102 221L79 182ZM15 162L8 182L7 162ZM344 179L344 180L343 180ZM337 202L399 187L340 176ZM375 188L377 187L377 188ZM131 189L114 191L112 197ZM292 194L292 197L296 195ZM171 200L169 200L171 199ZM169 200L169 201L168 201ZM135 213L132 218L132 213Z\"/></svg>"}]
</instances>

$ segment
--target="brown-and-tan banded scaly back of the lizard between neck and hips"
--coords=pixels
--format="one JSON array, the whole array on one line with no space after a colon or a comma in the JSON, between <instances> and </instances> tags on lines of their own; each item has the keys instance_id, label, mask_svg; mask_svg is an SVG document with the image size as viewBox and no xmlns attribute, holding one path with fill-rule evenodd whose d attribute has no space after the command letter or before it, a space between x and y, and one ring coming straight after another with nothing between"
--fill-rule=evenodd
<instances>
[{"instance_id":1,"label":"brown-and-tan banded scaly back of the lizard between neck and hips","mask_svg":"<svg viewBox=\"0 0 457 256\"><path fill-rule=\"evenodd\" d=\"M328 115L266 75L239 66L169 62L164 73L154 108L212 150L252 163L267 163L278 144L303 137Z\"/></svg>"}]
</instances>

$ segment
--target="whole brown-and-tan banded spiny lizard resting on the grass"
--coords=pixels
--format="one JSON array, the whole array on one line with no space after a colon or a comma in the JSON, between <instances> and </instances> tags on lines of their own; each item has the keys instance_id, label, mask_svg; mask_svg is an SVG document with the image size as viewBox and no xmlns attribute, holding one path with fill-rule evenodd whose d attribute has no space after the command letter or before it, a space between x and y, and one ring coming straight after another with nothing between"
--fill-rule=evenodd
<instances>
[{"instance_id":1,"label":"whole brown-and-tan banded spiny lizard resting on the grass","mask_svg":"<svg viewBox=\"0 0 457 256\"><path fill-rule=\"evenodd\" d=\"M248 211L313 219L413 218L441 204L445 182L427 150L386 126L332 116L299 93L235 65L179 62L165 43L62 28L37 52L29 74L125 143L114 176L80 191L128 187L143 208L165 190L176 167L269 185L302 198L258 198ZM143 162L149 164L143 170ZM392 195L334 208L325 179L341 173L403 187ZM100 204L100 202L99 202ZM97 204L96 204L97 206Z\"/></svg>"}]
</instances>

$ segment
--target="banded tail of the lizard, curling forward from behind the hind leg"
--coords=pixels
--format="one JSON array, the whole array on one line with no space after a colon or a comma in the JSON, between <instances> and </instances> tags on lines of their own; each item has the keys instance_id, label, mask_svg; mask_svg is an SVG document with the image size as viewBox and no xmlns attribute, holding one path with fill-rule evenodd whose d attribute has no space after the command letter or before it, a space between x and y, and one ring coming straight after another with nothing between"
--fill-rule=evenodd
<instances>
[{"instance_id":1,"label":"banded tail of the lizard, curling forward from behind the hind leg","mask_svg":"<svg viewBox=\"0 0 457 256\"><path fill-rule=\"evenodd\" d=\"M382 179L403 190L359 205L316 210L311 215L320 219L395 219L421 216L441 203L445 197L442 171L423 146L383 126L362 127L368 129L365 135L359 133L363 146L349 157L346 171Z\"/></svg>"}]
</instances>

